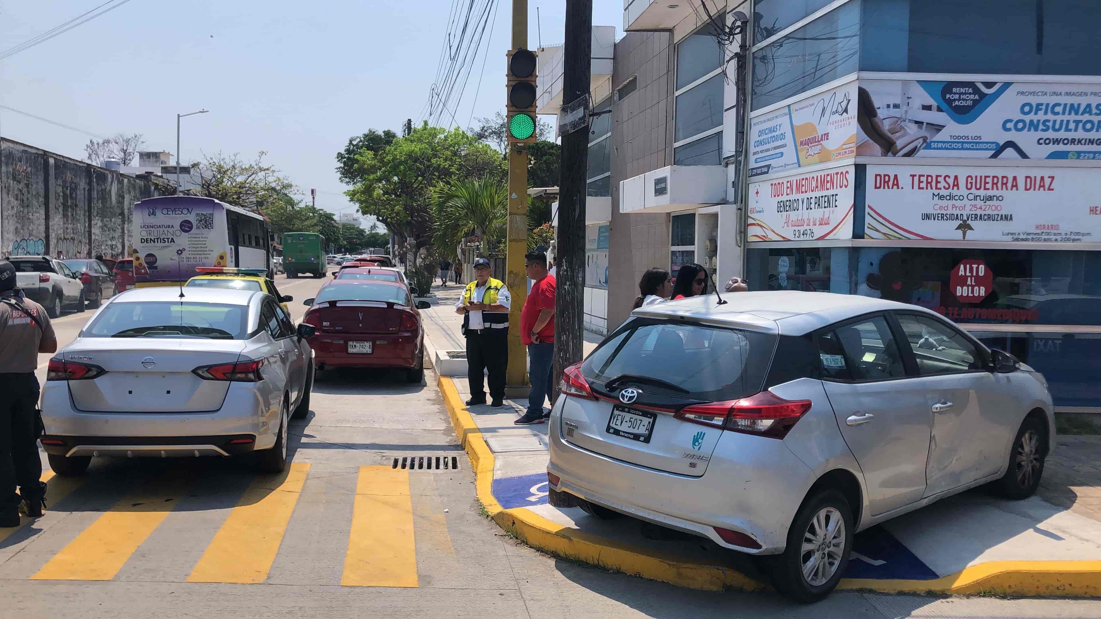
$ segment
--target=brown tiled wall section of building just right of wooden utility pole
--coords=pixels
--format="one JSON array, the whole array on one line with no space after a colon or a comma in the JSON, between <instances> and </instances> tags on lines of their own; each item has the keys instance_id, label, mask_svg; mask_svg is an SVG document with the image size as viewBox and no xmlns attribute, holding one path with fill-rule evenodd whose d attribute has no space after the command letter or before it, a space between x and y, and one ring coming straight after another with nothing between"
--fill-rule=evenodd
<instances>
[{"instance_id":1,"label":"brown tiled wall section of building just right of wooden utility pole","mask_svg":"<svg viewBox=\"0 0 1101 619\"><path fill-rule=\"evenodd\" d=\"M608 330L618 327L651 267L669 268L668 215L619 213L620 181L673 163L673 50L668 32L629 32L615 44L612 88L636 76L637 89L612 102L612 222Z\"/></svg>"}]
</instances>

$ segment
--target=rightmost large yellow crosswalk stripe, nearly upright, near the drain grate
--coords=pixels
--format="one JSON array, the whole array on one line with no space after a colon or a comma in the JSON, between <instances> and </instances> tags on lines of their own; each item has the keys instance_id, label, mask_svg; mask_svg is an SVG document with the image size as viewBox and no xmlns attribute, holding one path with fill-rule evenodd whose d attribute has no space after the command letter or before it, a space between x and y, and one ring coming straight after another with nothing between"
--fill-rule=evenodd
<instances>
[{"instance_id":1,"label":"rightmost large yellow crosswalk stripe, nearly upright, near the drain grate","mask_svg":"<svg viewBox=\"0 0 1101 619\"><path fill-rule=\"evenodd\" d=\"M408 470L361 466L340 584L416 587Z\"/></svg>"}]
</instances>

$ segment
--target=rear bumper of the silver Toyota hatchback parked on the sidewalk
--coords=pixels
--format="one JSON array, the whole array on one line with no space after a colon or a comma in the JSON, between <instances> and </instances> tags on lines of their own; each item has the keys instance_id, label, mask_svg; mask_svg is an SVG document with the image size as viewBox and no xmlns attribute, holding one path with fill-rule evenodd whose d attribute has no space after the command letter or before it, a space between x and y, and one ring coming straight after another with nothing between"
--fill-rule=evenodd
<instances>
[{"instance_id":1,"label":"rear bumper of the silver Toyota hatchback parked on the sidewalk","mask_svg":"<svg viewBox=\"0 0 1101 619\"><path fill-rule=\"evenodd\" d=\"M548 428L547 470L560 479L554 489L739 552L784 551L814 476L783 441L723 432L701 477L664 473L567 443L560 428L565 400L556 402ZM729 544L716 526L745 533L761 547Z\"/></svg>"}]
</instances>

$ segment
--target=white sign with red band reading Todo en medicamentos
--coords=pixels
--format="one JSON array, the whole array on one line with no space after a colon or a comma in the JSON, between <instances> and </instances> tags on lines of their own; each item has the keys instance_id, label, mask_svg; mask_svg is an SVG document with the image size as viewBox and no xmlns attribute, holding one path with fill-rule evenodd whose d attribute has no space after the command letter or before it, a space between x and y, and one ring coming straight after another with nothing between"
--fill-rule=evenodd
<instances>
[{"instance_id":1,"label":"white sign with red band reading Todo en medicamentos","mask_svg":"<svg viewBox=\"0 0 1101 619\"><path fill-rule=\"evenodd\" d=\"M750 184L749 240L851 239L852 166Z\"/></svg>"}]
</instances>

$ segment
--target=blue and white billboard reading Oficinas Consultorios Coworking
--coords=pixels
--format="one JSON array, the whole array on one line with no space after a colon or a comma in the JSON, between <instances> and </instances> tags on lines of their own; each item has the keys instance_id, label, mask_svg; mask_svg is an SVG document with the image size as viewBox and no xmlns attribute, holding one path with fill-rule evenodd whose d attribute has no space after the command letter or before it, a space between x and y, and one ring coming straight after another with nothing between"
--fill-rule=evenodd
<instances>
[{"instance_id":1,"label":"blue and white billboard reading Oficinas Consultorios Coworking","mask_svg":"<svg viewBox=\"0 0 1101 619\"><path fill-rule=\"evenodd\" d=\"M1101 84L861 79L857 90L857 156L1101 160Z\"/></svg>"}]
</instances>

